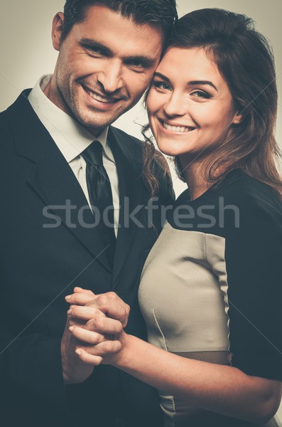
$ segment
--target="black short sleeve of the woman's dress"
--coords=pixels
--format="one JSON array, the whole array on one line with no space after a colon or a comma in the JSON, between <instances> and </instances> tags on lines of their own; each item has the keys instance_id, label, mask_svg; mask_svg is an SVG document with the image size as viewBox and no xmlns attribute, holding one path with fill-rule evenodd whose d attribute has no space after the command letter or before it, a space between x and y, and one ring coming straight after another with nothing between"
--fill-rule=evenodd
<instances>
[{"instance_id":1,"label":"black short sleeve of the woman's dress","mask_svg":"<svg viewBox=\"0 0 282 427\"><path fill-rule=\"evenodd\" d=\"M239 224L235 210L224 218L232 366L282 380L281 211L249 194L232 203Z\"/></svg>"}]
</instances>

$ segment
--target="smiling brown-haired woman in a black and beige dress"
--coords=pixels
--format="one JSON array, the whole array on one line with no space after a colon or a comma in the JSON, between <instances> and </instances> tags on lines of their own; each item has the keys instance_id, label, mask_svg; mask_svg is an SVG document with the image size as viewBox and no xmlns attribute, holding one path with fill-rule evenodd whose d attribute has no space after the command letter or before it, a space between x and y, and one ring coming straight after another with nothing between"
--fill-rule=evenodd
<instances>
[{"instance_id":1,"label":"smiling brown-haired woman in a black and beige dress","mask_svg":"<svg viewBox=\"0 0 282 427\"><path fill-rule=\"evenodd\" d=\"M116 332L78 357L155 386L165 426L277 426L282 185L266 39L251 19L229 11L184 16L146 103L159 149L175 157L188 184L141 276L151 344ZM151 146L145 157L154 190ZM97 337L71 331L89 343Z\"/></svg>"}]
</instances>

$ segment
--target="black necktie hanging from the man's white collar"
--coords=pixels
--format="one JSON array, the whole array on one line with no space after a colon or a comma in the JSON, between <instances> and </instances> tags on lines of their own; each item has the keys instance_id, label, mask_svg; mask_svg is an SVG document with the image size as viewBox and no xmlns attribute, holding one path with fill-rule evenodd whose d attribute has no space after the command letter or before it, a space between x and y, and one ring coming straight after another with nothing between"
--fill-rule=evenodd
<instances>
[{"instance_id":1,"label":"black necktie hanging from the man's white collar","mask_svg":"<svg viewBox=\"0 0 282 427\"><path fill-rule=\"evenodd\" d=\"M109 176L103 165L102 151L100 142L94 141L82 152L82 156L86 162L86 181L90 204L101 238L104 239L105 248L107 247L109 263L112 265L116 243L114 206Z\"/></svg>"}]
</instances>

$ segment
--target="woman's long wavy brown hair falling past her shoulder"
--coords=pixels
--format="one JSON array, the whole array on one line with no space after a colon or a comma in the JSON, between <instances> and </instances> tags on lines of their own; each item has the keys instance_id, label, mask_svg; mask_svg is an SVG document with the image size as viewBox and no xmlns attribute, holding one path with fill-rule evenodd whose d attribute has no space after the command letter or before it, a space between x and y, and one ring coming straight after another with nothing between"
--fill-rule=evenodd
<instances>
[{"instance_id":1,"label":"woman's long wavy brown hair falling past her shoulder","mask_svg":"<svg viewBox=\"0 0 282 427\"><path fill-rule=\"evenodd\" d=\"M234 105L243 116L239 125L232 125L227 140L203 159L207 179L214 183L231 170L242 169L270 186L282 199L281 150L275 138L278 94L269 42L255 30L254 22L242 14L201 9L176 23L170 47L205 48L217 63ZM147 130L148 125L143 127L143 135ZM151 162L157 154L153 142L148 141L146 137L143 175L150 189L156 191L158 184ZM185 181L178 157L175 169Z\"/></svg>"}]
</instances>

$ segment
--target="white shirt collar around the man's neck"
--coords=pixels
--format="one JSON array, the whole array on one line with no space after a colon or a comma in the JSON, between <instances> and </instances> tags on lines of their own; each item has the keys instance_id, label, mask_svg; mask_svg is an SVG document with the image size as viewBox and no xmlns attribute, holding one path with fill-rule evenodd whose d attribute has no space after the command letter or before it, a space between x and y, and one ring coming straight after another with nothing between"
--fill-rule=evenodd
<instances>
[{"instance_id":1,"label":"white shirt collar around the man's neck","mask_svg":"<svg viewBox=\"0 0 282 427\"><path fill-rule=\"evenodd\" d=\"M67 162L79 156L94 140L98 140L106 149L108 127L98 137L93 137L80 122L60 110L43 93L51 78L50 74L43 75L28 95L28 100Z\"/></svg>"}]
</instances>

